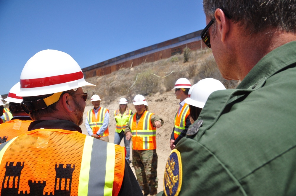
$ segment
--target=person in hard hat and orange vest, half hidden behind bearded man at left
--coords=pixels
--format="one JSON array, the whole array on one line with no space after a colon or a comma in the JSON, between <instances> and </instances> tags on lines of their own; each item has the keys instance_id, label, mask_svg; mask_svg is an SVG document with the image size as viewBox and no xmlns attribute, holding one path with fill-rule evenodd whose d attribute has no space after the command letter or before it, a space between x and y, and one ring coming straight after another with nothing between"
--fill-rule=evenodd
<instances>
[{"instance_id":1,"label":"person in hard hat and orange vest, half hidden behind bearded man at left","mask_svg":"<svg viewBox=\"0 0 296 196\"><path fill-rule=\"evenodd\" d=\"M4 100L9 102L9 110L12 113L12 119L0 125L0 143L11 140L26 131L33 120L22 109L22 97L16 94L20 92L20 82L12 86L9 90L7 98Z\"/></svg>"}]
</instances>

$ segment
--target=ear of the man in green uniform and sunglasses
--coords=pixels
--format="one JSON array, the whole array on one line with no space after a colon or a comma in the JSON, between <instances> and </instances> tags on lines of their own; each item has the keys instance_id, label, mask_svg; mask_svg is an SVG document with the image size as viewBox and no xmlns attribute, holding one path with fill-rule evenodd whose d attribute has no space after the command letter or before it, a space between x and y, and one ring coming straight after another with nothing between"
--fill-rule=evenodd
<instances>
[{"instance_id":1,"label":"ear of the man in green uniform and sunglasses","mask_svg":"<svg viewBox=\"0 0 296 196\"><path fill-rule=\"evenodd\" d=\"M221 35L221 41L224 42L227 38L227 33L229 32L229 22L230 19L227 18L222 9L216 9L215 11L215 19L217 30Z\"/></svg>"}]
</instances>

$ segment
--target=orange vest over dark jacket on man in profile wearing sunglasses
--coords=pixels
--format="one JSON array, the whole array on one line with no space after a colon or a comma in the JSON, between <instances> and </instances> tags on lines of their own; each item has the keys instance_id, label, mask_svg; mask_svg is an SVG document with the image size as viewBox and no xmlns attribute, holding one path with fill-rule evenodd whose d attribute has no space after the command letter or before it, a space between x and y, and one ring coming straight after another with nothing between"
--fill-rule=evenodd
<instances>
[{"instance_id":1,"label":"orange vest over dark jacket on man in profile wearing sunglasses","mask_svg":"<svg viewBox=\"0 0 296 196\"><path fill-rule=\"evenodd\" d=\"M175 140L178 138L181 132L185 130L186 118L189 116L189 114L190 114L189 105L185 103L182 107L180 114L178 114L177 112L175 116L175 128L174 128Z\"/></svg>"}]
</instances>

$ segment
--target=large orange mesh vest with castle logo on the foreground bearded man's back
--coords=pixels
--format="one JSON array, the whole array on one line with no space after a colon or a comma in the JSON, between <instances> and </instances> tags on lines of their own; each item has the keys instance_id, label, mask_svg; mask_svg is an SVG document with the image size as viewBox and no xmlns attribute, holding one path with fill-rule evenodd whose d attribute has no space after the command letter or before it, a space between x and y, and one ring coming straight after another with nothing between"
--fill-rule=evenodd
<instances>
[{"instance_id":1,"label":"large orange mesh vest with castle logo on the foreground bearded man's back","mask_svg":"<svg viewBox=\"0 0 296 196\"><path fill-rule=\"evenodd\" d=\"M2 143L0 160L1 195L109 196L120 191L125 148L78 131L36 129Z\"/></svg>"}]
</instances>

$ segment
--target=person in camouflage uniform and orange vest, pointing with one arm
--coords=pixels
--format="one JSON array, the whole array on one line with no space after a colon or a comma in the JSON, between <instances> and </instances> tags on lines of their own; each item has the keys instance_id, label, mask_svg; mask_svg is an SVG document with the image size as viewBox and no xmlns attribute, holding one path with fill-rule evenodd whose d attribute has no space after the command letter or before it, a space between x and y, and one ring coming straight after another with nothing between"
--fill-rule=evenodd
<instances>
[{"instance_id":1,"label":"person in camouflage uniform and orange vest, pointing with one arm","mask_svg":"<svg viewBox=\"0 0 296 196\"><path fill-rule=\"evenodd\" d=\"M145 97L138 94L133 99L136 113L130 116L126 125L126 139L132 137L133 166L144 196L157 193L156 128L163 125L163 119L148 112Z\"/></svg>"}]
</instances>

